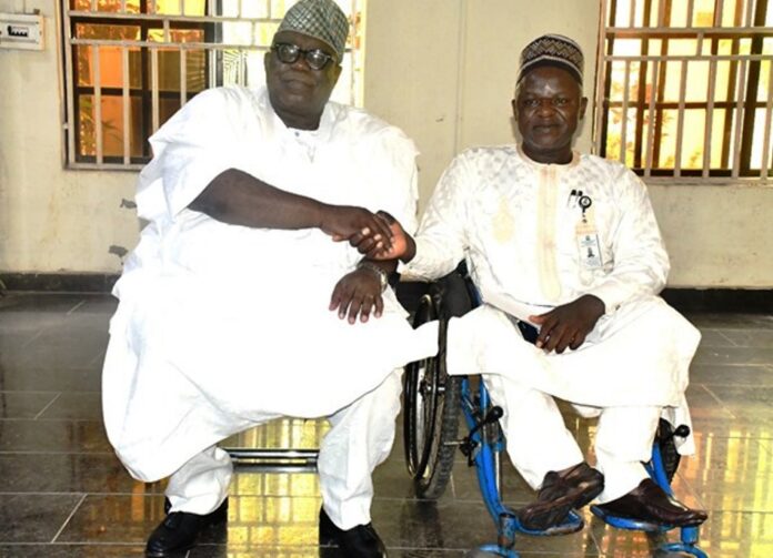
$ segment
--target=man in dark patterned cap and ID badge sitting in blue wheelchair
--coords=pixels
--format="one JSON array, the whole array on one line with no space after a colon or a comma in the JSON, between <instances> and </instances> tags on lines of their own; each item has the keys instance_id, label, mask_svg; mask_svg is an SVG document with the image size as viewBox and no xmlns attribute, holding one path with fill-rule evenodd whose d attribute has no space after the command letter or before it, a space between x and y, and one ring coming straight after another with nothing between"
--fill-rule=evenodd
<instances>
[{"instance_id":1,"label":"man in dark patterned cap and ID badge sitting in blue wheelchair","mask_svg":"<svg viewBox=\"0 0 773 558\"><path fill-rule=\"evenodd\" d=\"M662 414L690 424L684 390L700 334L656 296L669 258L644 184L572 150L588 102L582 64L571 39L530 43L512 102L521 144L460 154L415 242L396 234L391 255L405 243L405 273L428 280L468 263L483 304L450 322L448 369L483 373L504 409L509 454L539 490L520 510L524 527L550 529L596 496L611 515L697 525L706 515L669 498L641 461ZM530 326L535 344L516 321L539 328ZM554 397L599 415L598 470ZM680 447L692 450L692 439Z\"/></svg>"}]
</instances>

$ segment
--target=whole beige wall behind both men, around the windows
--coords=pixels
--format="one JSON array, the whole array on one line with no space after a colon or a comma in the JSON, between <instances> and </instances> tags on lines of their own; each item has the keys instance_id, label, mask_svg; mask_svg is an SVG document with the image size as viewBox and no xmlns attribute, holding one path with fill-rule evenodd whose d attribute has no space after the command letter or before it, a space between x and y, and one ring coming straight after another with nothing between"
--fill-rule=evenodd
<instances>
[{"instance_id":1,"label":"whole beige wall behind both men, around the windows","mask_svg":"<svg viewBox=\"0 0 773 558\"><path fill-rule=\"evenodd\" d=\"M24 2L0 0L0 11ZM54 0L43 52L0 50L0 274L117 272L111 246L130 248L138 222L121 201L134 173L62 169ZM370 0L365 105L403 128L422 154L422 204L458 151L512 141L518 52L548 31L586 53L592 97L599 2ZM579 139L590 149L591 122ZM773 287L773 189L652 186L673 260L673 286Z\"/></svg>"}]
</instances>

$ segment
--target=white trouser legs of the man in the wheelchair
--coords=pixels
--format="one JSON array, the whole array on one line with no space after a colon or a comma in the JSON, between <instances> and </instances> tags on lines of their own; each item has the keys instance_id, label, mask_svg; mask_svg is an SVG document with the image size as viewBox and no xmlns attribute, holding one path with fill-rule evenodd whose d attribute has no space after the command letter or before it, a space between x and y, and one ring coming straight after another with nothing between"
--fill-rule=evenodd
<instances>
[{"instance_id":1,"label":"white trouser legs of the man in the wheelchair","mask_svg":"<svg viewBox=\"0 0 773 558\"><path fill-rule=\"evenodd\" d=\"M572 467L583 460L576 440L564 425L553 397L504 376L483 375L491 400L504 412L500 423L508 454L529 485L539 489L548 471ZM599 416L595 433L595 467L604 475L604 504L630 493L647 477L642 461L652 455L660 407L576 406L585 416Z\"/></svg>"}]
</instances>

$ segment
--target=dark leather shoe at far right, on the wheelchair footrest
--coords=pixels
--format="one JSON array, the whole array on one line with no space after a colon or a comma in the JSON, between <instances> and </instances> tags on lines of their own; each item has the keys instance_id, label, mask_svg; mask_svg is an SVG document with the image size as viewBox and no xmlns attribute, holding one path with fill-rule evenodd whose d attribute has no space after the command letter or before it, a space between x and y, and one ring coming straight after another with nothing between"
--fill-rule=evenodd
<instances>
[{"instance_id":1,"label":"dark leather shoe at far right, on the wheelchair footrest","mask_svg":"<svg viewBox=\"0 0 773 558\"><path fill-rule=\"evenodd\" d=\"M694 527L709 517L702 509L691 509L665 494L651 478L645 478L625 496L602 504L599 508L611 516L671 527Z\"/></svg>"}]
</instances>

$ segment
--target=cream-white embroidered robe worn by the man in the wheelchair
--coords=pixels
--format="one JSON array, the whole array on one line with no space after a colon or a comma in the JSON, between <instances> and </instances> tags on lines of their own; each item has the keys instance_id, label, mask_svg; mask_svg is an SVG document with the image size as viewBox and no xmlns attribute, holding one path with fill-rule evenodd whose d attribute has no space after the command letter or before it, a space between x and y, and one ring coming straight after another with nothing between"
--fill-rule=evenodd
<instances>
[{"instance_id":1,"label":"cream-white embroidered robe worn by the man in the wheelchair","mask_svg":"<svg viewBox=\"0 0 773 558\"><path fill-rule=\"evenodd\" d=\"M584 221L582 195L591 200ZM460 154L402 271L432 280L463 258L484 304L449 325L450 374L502 374L589 414L662 406L690 425L684 390L700 333L656 296L669 258L646 189L630 170L576 153L566 165L539 164L514 145ZM584 294L606 313L578 351L545 354L510 318ZM692 453L692 439L680 450Z\"/></svg>"}]
</instances>

